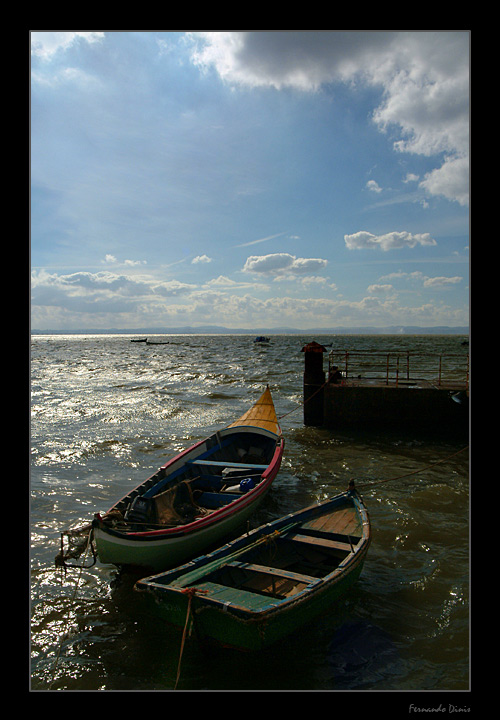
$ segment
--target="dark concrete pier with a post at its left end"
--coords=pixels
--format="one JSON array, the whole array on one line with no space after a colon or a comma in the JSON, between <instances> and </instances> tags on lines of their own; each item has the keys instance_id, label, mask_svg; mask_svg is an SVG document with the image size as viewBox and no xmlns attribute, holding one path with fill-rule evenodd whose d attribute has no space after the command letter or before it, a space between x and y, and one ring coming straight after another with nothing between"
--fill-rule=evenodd
<instances>
[{"instance_id":1,"label":"dark concrete pier with a post at its left end","mask_svg":"<svg viewBox=\"0 0 500 720\"><path fill-rule=\"evenodd\" d=\"M460 435L468 432L468 357L465 355L460 358L460 362L467 361L463 379L457 379L456 372L454 379L446 379L441 359L436 378L412 377L409 355L398 357L397 362L392 358L391 372L387 361L387 372L379 372L379 377L349 376L347 358L345 370L330 361L328 377L325 377L323 356L327 349L312 342L302 351L305 425Z\"/></svg>"}]
</instances>

